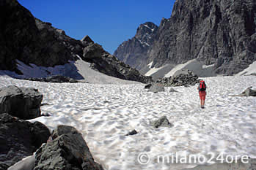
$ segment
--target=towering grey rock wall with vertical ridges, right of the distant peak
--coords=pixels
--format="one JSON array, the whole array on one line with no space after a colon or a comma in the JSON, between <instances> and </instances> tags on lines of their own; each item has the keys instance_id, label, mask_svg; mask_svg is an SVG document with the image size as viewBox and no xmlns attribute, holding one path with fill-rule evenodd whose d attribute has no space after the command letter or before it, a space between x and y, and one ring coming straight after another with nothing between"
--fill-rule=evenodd
<instances>
[{"instance_id":1,"label":"towering grey rock wall with vertical ridges, right of the distant peak","mask_svg":"<svg viewBox=\"0 0 256 170\"><path fill-rule=\"evenodd\" d=\"M255 0L176 0L143 58L151 67L197 58L217 74L235 74L256 60L255 32Z\"/></svg>"}]
</instances>

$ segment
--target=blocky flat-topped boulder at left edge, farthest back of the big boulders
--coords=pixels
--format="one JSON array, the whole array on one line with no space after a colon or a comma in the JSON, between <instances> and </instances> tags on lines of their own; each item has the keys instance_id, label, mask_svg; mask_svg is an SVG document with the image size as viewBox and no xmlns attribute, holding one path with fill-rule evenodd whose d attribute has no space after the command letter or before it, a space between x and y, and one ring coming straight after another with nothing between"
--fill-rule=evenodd
<instances>
[{"instance_id":1,"label":"blocky flat-topped boulder at left edge, farthest back of the big boulders","mask_svg":"<svg viewBox=\"0 0 256 170\"><path fill-rule=\"evenodd\" d=\"M0 89L0 114L7 112L21 119L39 117L43 94L34 88L10 85Z\"/></svg>"}]
</instances>

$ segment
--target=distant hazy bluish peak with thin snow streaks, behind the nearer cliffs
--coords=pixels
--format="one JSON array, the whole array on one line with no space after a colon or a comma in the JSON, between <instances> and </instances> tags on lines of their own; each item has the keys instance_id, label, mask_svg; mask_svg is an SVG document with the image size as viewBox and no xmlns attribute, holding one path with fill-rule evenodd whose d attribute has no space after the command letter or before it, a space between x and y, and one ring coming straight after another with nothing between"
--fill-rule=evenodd
<instances>
[{"instance_id":1,"label":"distant hazy bluish peak with thin snow streaks, behind the nearer cliffs","mask_svg":"<svg viewBox=\"0 0 256 170\"><path fill-rule=\"evenodd\" d=\"M114 55L127 63L128 65L142 69L145 66L145 60L147 61L147 51L153 44L154 36L156 36L158 26L154 23L144 23L137 28L136 35L128 41L122 42Z\"/></svg>"}]
</instances>

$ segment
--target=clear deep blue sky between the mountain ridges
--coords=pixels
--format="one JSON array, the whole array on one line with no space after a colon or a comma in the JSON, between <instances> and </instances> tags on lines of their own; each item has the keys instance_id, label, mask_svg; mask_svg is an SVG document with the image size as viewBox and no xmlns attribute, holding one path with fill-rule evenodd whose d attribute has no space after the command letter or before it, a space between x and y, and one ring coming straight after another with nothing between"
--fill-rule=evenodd
<instances>
[{"instance_id":1,"label":"clear deep blue sky between the mountain ridges","mask_svg":"<svg viewBox=\"0 0 256 170\"><path fill-rule=\"evenodd\" d=\"M141 23L159 26L170 18L175 0L18 0L35 18L52 23L74 39L89 35L114 53Z\"/></svg>"}]
</instances>

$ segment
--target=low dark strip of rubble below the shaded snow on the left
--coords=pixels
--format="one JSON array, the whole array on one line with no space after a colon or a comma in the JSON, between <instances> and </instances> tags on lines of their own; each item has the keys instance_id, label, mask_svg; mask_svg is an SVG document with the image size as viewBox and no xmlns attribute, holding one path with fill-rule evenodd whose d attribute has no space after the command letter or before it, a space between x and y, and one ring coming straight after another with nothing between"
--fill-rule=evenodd
<instances>
[{"instance_id":1,"label":"low dark strip of rubble below the shaded snow on the left","mask_svg":"<svg viewBox=\"0 0 256 170\"><path fill-rule=\"evenodd\" d=\"M70 82L70 83L76 83L78 82L77 80L74 80L70 77L65 77L62 75L54 75L50 77L45 77L45 78L29 78L26 79L29 81L37 81L37 82Z\"/></svg>"}]
</instances>

